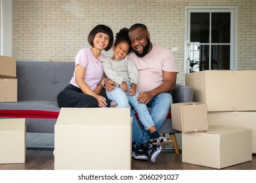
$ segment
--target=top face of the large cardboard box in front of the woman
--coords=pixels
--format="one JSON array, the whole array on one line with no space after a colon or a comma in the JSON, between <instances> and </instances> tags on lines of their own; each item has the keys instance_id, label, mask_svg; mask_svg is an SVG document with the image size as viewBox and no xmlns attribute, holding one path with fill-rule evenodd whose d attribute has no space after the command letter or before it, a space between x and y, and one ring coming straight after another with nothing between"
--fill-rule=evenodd
<instances>
[{"instance_id":1,"label":"top face of the large cardboard box in front of the woman","mask_svg":"<svg viewBox=\"0 0 256 183\"><path fill-rule=\"evenodd\" d=\"M130 125L130 108L61 108L56 125Z\"/></svg>"}]
</instances>

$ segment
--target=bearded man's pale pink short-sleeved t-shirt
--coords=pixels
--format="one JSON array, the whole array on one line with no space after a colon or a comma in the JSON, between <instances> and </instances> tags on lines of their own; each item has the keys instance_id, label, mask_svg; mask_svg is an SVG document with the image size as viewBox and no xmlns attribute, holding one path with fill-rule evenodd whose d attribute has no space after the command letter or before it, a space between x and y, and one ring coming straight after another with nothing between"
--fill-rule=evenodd
<instances>
[{"instance_id":1,"label":"bearded man's pale pink short-sleeved t-shirt","mask_svg":"<svg viewBox=\"0 0 256 183\"><path fill-rule=\"evenodd\" d=\"M157 44L146 56L140 58L134 52L129 54L139 71L137 92L153 90L163 83L163 71L179 73L173 52Z\"/></svg>"}]
</instances>

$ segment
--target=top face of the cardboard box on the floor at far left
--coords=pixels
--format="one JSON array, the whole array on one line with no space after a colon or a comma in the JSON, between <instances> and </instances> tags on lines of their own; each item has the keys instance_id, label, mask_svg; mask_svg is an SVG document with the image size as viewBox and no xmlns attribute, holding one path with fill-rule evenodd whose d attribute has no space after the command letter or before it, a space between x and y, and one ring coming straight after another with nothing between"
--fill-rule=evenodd
<instances>
[{"instance_id":1,"label":"top face of the cardboard box on the floor at far left","mask_svg":"<svg viewBox=\"0 0 256 183\"><path fill-rule=\"evenodd\" d=\"M0 131L24 131L25 119L0 119Z\"/></svg>"}]
</instances>

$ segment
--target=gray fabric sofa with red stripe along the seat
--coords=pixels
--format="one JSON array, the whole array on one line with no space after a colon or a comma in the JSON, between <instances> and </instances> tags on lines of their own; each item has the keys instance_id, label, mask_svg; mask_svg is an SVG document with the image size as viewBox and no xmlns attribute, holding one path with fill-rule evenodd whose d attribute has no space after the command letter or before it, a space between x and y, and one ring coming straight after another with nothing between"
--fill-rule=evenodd
<instances>
[{"instance_id":1,"label":"gray fabric sofa with red stripe along the seat","mask_svg":"<svg viewBox=\"0 0 256 183\"><path fill-rule=\"evenodd\" d=\"M18 102L0 103L0 118L26 118L27 132L54 133L54 124L60 108L58 93L70 82L74 62L69 61L16 61ZM174 102L190 102L193 90L177 84L172 91ZM171 129L171 130L170 130ZM167 119L161 133L179 133Z\"/></svg>"}]
</instances>

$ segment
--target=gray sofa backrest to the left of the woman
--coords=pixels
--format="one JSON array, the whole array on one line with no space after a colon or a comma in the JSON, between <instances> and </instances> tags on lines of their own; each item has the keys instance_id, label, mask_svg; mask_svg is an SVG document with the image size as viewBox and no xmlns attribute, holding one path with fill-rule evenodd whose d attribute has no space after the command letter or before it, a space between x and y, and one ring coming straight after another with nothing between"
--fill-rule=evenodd
<instances>
[{"instance_id":1,"label":"gray sofa backrest to the left of the woman","mask_svg":"<svg viewBox=\"0 0 256 183\"><path fill-rule=\"evenodd\" d=\"M16 61L18 101L56 101L74 67L72 61Z\"/></svg>"}]
</instances>

